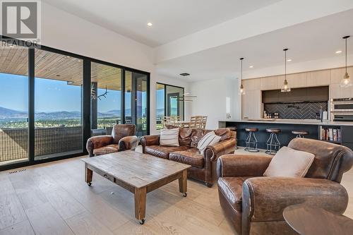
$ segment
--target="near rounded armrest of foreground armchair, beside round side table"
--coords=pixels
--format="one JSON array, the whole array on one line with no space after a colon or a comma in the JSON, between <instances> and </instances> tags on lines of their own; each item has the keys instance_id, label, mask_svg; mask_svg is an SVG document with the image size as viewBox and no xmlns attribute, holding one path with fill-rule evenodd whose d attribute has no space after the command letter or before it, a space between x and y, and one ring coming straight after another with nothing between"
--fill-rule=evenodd
<instances>
[{"instance_id":1,"label":"near rounded armrest of foreground armchair, beside round side table","mask_svg":"<svg viewBox=\"0 0 353 235\"><path fill-rule=\"evenodd\" d=\"M302 203L342 214L348 194L340 183L328 179L256 177L244 182L242 202L245 220L281 221L285 207Z\"/></svg>"}]
</instances>

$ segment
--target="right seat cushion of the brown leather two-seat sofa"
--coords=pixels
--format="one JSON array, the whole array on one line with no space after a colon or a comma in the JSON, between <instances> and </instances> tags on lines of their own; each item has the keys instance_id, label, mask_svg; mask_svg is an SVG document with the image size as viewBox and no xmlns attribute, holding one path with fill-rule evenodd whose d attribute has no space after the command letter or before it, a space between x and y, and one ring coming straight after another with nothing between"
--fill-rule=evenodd
<instances>
[{"instance_id":1,"label":"right seat cushion of the brown leather two-seat sofa","mask_svg":"<svg viewBox=\"0 0 353 235\"><path fill-rule=\"evenodd\" d=\"M169 160L191 165L193 167L203 168L203 155L198 152L197 148L190 148L189 150L182 150L171 152Z\"/></svg>"}]
</instances>

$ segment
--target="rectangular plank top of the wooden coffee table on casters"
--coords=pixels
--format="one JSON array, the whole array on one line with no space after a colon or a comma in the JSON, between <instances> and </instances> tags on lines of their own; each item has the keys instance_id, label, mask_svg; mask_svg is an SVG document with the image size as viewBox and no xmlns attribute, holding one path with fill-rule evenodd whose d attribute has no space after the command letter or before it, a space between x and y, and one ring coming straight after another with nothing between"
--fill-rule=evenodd
<instances>
[{"instance_id":1,"label":"rectangular plank top of the wooden coffee table on casters","mask_svg":"<svg viewBox=\"0 0 353 235\"><path fill-rule=\"evenodd\" d=\"M187 164L132 150L83 158L82 161L135 188L149 186L156 181L190 168Z\"/></svg>"}]
</instances>

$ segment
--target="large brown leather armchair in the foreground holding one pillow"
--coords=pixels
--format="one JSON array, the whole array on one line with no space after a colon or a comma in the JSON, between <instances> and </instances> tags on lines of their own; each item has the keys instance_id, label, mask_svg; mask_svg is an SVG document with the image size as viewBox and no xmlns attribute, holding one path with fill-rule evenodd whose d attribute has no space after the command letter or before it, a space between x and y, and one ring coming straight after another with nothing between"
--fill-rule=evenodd
<instances>
[{"instance_id":1,"label":"large brown leather armchair in the foreground holding one pillow","mask_svg":"<svg viewBox=\"0 0 353 235\"><path fill-rule=\"evenodd\" d=\"M353 165L352 150L304 138L295 138L288 147L315 155L305 178L264 177L272 158L263 155L223 155L217 160L220 205L238 234L297 234L282 215L289 205L345 212L348 195L340 181Z\"/></svg>"}]
</instances>

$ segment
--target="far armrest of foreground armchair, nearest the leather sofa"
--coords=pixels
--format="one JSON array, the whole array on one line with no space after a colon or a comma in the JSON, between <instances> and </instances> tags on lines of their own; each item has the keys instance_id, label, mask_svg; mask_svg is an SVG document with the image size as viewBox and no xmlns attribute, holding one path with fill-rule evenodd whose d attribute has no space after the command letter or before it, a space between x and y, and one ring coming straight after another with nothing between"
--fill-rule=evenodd
<instances>
[{"instance_id":1,"label":"far armrest of foreground armchair, nearest the leather sofa","mask_svg":"<svg viewBox=\"0 0 353 235\"><path fill-rule=\"evenodd\" d=\"M217 160L217 176L263 176L271 159L263 155L223 155Z\"/></svg>"}]
</instances>

